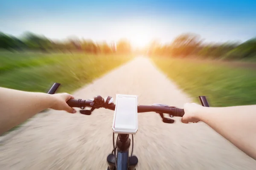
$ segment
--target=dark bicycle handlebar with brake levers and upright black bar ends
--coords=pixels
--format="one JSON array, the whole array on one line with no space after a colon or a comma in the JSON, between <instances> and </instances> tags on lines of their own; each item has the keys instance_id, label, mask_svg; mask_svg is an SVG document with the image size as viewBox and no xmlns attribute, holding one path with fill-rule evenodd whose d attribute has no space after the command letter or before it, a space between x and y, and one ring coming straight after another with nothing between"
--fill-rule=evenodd
<instances>
[{"instance_id":1,"label":"dark bicycle handlebar with brake levers and upright black bar ends","mask_svg":"<svg viewBox=\"0 0 256 170\"><path fill-rule=\"evenodd\" d=\"M59 83L54 83L52 88L49 90L48 94L54 94L55 91L59 87ZM201 101L201 104L204 107L209 107L209 104L207 102L207 99L205 96L199 96L199 99ZM90 115L94 109L97 108L106 108L110 110L115 110L116 105L113 104L113 98L108 96L106 100L102 98L102 96L96 96L93 100L84 100L84 99L70 99L67 101L67 104L72 108L91 108L91 110L81 110L80 113L85 115ZM182 117L184 115L184 110L176 107L169 107L168 105L162 105L162 104L154 104L152 106L148 105L139 105L137 109L138 113L143 112L156 112L159 113L161 118L163 119L163 122L165 123L173 123L173 119L165 118L163 116L163 113L168 113L169 116L178 116Z\"/></svg>"}]
</instances>

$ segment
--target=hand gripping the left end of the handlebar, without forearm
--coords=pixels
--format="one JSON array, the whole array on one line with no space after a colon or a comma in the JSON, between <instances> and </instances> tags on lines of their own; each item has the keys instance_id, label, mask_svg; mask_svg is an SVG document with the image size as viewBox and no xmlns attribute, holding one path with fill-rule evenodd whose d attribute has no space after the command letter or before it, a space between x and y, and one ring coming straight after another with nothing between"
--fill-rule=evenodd
<instances>
[{"instance_id":1,"label":"hand gripping the left end of the handlebar, without forearm","mask_svg":"<svg viewBox=\"0 0 256 170\"><path fill-rule=\"evenodd\" d=\"M71 108L67 101L69 99L74 99L74 96L67 93L61 94L51 94L53 102L51 109L58 110L58 111L67 111L68 113L76 113L76 110Z\"/></svg>"}]
</instances>

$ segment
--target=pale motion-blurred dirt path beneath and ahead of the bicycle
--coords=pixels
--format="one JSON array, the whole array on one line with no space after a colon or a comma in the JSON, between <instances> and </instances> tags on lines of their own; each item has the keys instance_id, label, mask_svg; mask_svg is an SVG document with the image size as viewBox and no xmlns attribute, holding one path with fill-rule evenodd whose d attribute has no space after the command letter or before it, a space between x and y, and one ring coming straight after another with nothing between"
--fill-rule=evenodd
<instances>
[{"instance_id":1,"label":"pale motion-blurred dirt path beneath and ahead of the bicycle","mask_svg":"<svg viewBox=\"0 0 256 170\"><path fill-rule=\"evenodd\" d=\"M137 94L140 104L182 107L190 99L148 59L137 58L74 96ZM112 111L91 116L51 111L0 144L1 170L105 170L112 150ZM254 170L256 161L204 123L164 124L155 113L140 113L134 136L137 170Z\"/></svg>"}]
</instances>

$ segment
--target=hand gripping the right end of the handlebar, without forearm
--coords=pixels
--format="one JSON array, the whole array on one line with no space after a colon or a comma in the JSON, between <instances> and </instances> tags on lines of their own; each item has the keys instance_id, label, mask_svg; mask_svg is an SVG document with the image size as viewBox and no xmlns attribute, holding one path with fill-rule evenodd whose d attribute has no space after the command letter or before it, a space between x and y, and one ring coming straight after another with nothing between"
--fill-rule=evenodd
<instances>
[{"instance_id":1,"label":"hand gripping the right end of the handlebar, without forearm","mask_svg":"<svg viewBox=\"0 0 256 170\"><path fill-rule=\"evenodd\" d=\"M198 105L196 103L185 103L183 109L184 109L184 116L181 118L181 122L183 123L197 123L199 122L198 118L198 112L203 106Z\"/></svg>"}]
</instances>

